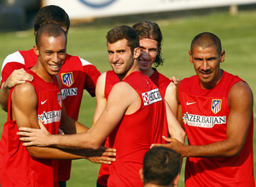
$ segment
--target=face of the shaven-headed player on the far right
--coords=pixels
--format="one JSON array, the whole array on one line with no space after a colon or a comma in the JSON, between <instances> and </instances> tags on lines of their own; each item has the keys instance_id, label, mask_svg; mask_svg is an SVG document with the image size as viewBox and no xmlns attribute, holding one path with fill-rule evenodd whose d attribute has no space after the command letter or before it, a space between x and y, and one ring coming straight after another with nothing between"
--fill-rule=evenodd
<instances>
[{"instance_id":1,"label":"face of the shaven-headed player on the far right","mask_svg":"<svg viewBox=\"0 0 256 187\"><path fill-rule=\"evenodd\" d=\"M223 74L220 63L224 62L224 50L218 54L216 47L202 48L195 45L192 51L189 51L189 61L200 78L201 88L215 87Z\"/></svg>"}]
</instances>

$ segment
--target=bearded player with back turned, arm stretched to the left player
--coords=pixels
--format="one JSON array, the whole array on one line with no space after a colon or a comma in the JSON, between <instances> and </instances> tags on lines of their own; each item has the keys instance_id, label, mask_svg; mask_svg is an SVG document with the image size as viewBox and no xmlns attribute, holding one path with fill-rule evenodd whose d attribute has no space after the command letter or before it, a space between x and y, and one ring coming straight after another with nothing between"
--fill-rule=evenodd
<instances>
[{"instance_id":1,"label":"bearded player with back turned, arm stretched to the left player","mask_svg":"<svg viewBox=\"0 0 256 187\"><path fill-rule=\"evenodd\" d=\"M109 167L108 186L143 186L138 176L143 156L152 142L162 143L167 120L175 120L175 116L159 89L139 71L137 32L130 26L116 26L108 31L107 40L109 63L120 82L111 89L96 124L85 133L73 135L51 135L44 126L40 130L23 127L20 140L26 146L97 149L109 135L109 145L117 156ZM177 121L173 126L183 132Z\"/></svg>"}]
</instances>

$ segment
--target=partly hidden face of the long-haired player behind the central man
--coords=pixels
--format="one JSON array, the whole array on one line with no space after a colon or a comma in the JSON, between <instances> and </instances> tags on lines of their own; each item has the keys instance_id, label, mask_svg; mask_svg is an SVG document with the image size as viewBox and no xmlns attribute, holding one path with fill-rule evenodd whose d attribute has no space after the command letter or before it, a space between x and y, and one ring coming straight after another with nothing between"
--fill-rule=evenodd
<instances>
[{"instance_id":1,"label":"partly hidden face of the long-haired player behind the central man","mask_svg":"<svg viewBox=\"0 0 256 187\"><path fill-rule=\"evenodd\" d=\"M152 68L157 54L160 52L158 42L154 39L142 38L140 39L141 55L139 56L140 70L144 75L151 76ZM151 75L150 75L151 74Z\"/></svg>"}]
</instances>

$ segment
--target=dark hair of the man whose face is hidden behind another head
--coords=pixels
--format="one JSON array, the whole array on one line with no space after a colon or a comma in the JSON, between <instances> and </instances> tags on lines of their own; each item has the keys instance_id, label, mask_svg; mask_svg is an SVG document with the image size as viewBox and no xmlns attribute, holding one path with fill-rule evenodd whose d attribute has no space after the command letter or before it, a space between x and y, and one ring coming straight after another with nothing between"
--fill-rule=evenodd
<instances>
[{"instance_id":1,"label":"dark hair of the man whose face is hidden behind another head","mask_svg":"<svg viewBox=\"0 0 256 187\"><path fill-rule=\"evenodd\" d=\"M67 27L67 31L70 26L68 14L64 9L55 5L49 5L39 9L38 14L36 15L34 31L38 31L39 27L48 23L55 23L59 26L65 26Z\"/></svg>"}]
</instances>

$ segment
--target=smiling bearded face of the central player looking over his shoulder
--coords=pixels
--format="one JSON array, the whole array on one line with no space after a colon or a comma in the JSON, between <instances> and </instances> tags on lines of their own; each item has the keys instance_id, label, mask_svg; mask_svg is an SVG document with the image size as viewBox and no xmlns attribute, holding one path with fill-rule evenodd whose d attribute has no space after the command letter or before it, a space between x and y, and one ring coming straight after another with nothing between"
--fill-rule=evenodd
<instances>
[{"instance_id":1,"label":"smiling bearded face of the central player looking over his shoulder","mask_svg":"<svg viewBox=\"0 0 256 187\"><path fill-rule=\"evenodd\" d=\"M131 48L127 45L126 39L118 40L117 42L108 42L108 60L113 68L113 72L123 80L129 72L137 68L135 59L139 56L139 48L135 48L133 54Z\"/></svg>"}]
</instances>

